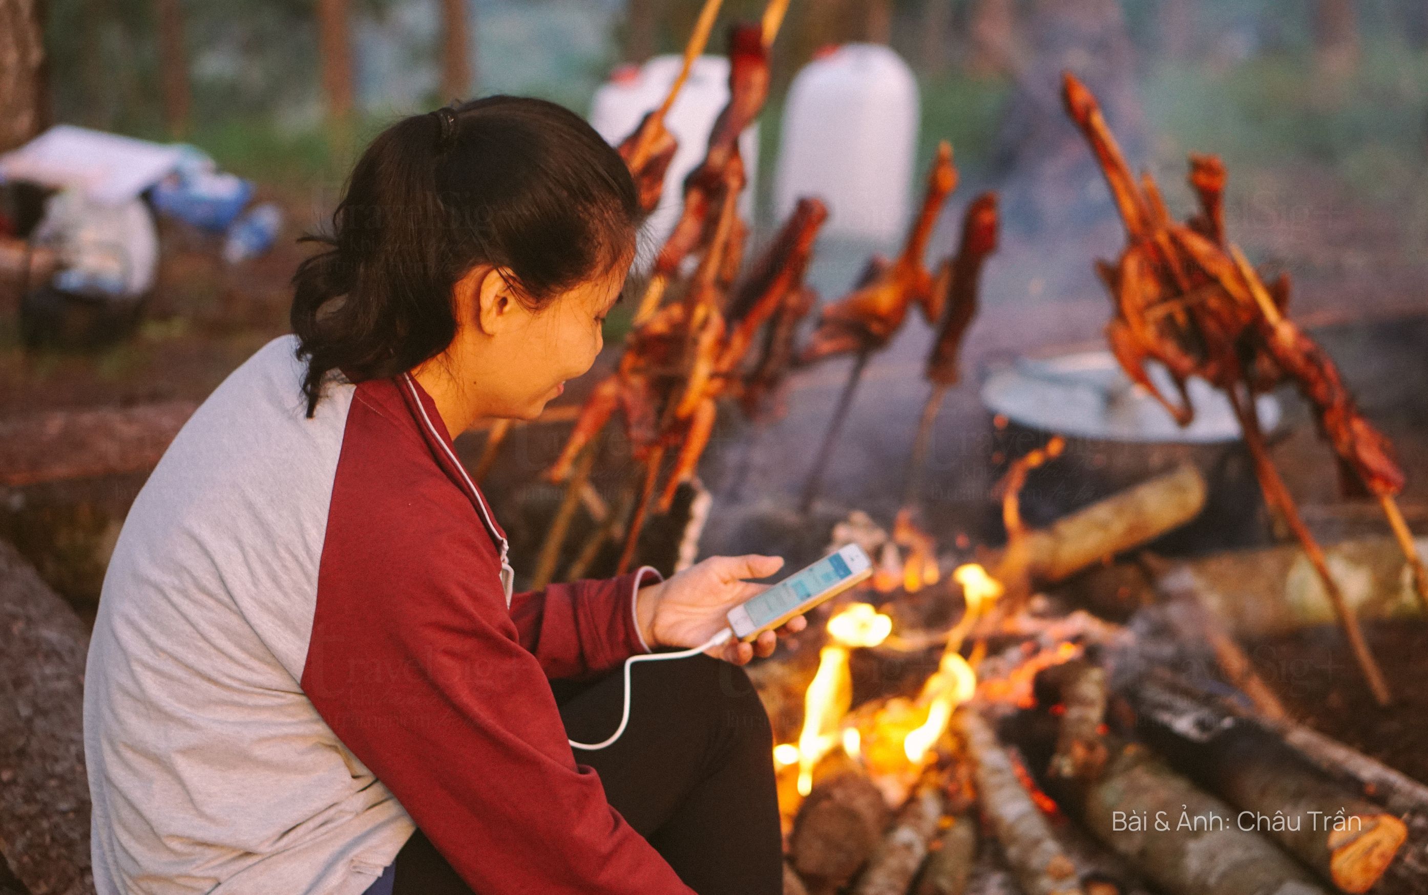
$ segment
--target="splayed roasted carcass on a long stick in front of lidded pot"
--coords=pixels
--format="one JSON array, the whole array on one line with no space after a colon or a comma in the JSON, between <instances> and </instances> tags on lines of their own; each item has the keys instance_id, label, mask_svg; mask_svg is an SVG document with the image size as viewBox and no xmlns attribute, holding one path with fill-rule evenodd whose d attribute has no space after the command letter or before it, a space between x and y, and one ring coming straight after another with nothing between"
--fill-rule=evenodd
<instances>
[{"instance_id":1,"label":"splayed roasted carcass on a long stick in front of lidded pot","mask_svg":"<svg viewBox=\"0 0 1428 895\"><path fill-rule=\"evenodd\" d=\"M1304 548L1374 698L1387 705L1391 697L1378 662L1329 574L1322 548L1309 534L1279 477L1259 427L1254 393L1274 378L1272 367L1279 358L1257 344L1262 328L1257 321L1265 314L1257 305L1261 298L1269 307L1275 303L1267 294L1261 298L1250 294L1251 288L1227 254L1221 210L1222 166L1208 158L1192 158L1191 186L1200 197L1201 213L1188 227L1174 224L1154 181L1147 176L1137 184L1131 176L1095 97L1071 74L1065 76L1064 86L1067 111L1090 141L1127 231L1127 248L1120 264L1098 266L1115 298L1115 317L1107 327L1111 351L1127 375L1147 388L1181 425L1194 418L1185 390L1191 375L1205 378L1230 398L1265 501L1279 511ZM1281 281L1281 305L1285 298L1287 284ZM1180 404L1155 388L1144 367L1147 358L1165 365L1180 393ZM1288 355L1284 360L1294 367Z\"/></svg>"}]
</instances>

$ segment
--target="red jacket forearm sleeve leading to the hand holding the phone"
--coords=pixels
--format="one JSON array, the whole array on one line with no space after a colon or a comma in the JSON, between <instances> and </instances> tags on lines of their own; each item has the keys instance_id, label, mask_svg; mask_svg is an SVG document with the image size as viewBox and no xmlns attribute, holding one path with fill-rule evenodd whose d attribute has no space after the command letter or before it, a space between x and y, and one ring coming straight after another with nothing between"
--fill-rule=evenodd
<instances>
[{"instance_id":1,"label":"red jacket forearm sleeve leading to the hand holding the phone","mask_svg":"<svg viewBox=\"0 0 1428 895\"><path fill-rule=\"evenodd\" d=\"M644 568L611 581L551 584L511 598L511 618L521 645L536 654L548 678L580 678L608 671L638 652L650 652L640 637L634 594L660 581Z\"/></svg>"}]
</instances>

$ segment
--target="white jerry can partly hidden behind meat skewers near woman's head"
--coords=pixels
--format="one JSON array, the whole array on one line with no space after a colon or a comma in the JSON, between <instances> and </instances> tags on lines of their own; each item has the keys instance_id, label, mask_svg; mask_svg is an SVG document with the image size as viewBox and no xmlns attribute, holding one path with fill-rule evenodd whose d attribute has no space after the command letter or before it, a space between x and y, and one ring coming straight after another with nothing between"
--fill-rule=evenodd
<instances>
[{"instance_id":1,"label":"white jerry can partly hidden behind meat skewers near woman's head","mask_svg":"<svg viewBox=\"0 0 1428 895\"><path fill-rule=\"evenodd\" d=\"M611 146L620 146L640 126L644 116L664 101L683 63L683 57L667 54L655 56L643 66L617 69L610 80L595 90L595 98L590 108L591 127ZM690 80L684 83L684 89L680 90L680 96L674 100L664 121L670 133L680 141L680 147L664 176L660 206L645 223L644 236L654 243L653 250L658 250L680 218L684 178L704 160L714 120L725 104L728 104L728 59L723 56L698 57L690 70ZM750 126L740 136L738 148L748 176L748 186L744 187L744 194L740 197L740 210L748 218L754 208L754 181L758 176L757 124ZM648 248L651 247L641 246L641 258L650 257L645 251Z\"/></svg>"}]
</instances>

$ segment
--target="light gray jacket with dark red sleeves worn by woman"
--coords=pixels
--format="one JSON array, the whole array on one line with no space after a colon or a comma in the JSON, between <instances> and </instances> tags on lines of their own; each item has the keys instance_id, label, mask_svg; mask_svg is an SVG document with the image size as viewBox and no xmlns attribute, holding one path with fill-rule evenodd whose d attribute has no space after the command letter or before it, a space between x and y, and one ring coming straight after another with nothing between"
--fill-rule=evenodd
<instances>
[{"instance_id":1,"label":"light gray jacket with dark red sleeves worn by woman","mask_svg":"<svg viewBox=\"0 0 1428 895\"><path fill-rule=\"evenodd\" d=\"M203 403L114 548L84 687L100 895L357 895L413 824L483 895L688 895L547 684L648 651L653 571L513 597L416 380L334 375L308 420L296 347Z\"/></svg>"}]
</instances>

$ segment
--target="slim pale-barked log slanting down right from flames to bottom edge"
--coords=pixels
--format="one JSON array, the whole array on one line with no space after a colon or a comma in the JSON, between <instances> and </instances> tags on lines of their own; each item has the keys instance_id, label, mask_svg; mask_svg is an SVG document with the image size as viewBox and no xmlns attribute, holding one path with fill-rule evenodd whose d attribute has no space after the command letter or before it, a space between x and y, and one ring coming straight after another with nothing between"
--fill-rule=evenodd
<instances>
[{"instance_id":1,"label":"slim pale-barked log slanting down right from flames to bottom edge","mask_svg":"<svg viewBox=\"0 0 1428 895\"><path fill-rule=\"evenodd\" d=\"M1021 889L1027 895L1082 892L1075 865L1041 816L991 727L971 708L958 711L954 724L972 761L977 801L991 821Z\"/></svg>"}]
</instances>

